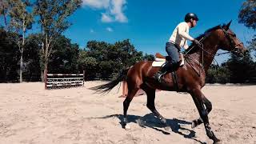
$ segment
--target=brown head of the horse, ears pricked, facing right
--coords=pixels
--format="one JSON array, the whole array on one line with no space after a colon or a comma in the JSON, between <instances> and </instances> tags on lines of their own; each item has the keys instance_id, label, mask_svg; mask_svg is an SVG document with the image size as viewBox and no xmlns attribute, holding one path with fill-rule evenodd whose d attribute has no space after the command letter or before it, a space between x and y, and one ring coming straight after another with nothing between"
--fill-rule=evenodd
<instances>
[{"instance_id":1,"label":"brown head of the horse, ears pricked, facing right","mask_svg":"<svg viewBox=\"0 0 256 144\"><path fill-rule=\"evenodd\" d=\"M222 50L231 51L238 56L242 56L247 50L243 46L243 43L236 37L236 34L230 30L230 24L231 21L221 27L222 41L220 46Z\"/></svg>"}]
</instances>

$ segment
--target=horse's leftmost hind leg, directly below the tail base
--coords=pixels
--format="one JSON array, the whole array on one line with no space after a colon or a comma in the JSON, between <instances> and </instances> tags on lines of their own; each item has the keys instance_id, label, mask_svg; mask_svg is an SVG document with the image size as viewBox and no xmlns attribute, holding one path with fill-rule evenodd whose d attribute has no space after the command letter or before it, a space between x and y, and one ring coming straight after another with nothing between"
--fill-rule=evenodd
<instances>
[{"instance_id":1,"label":"horse's leftmost hind leg, directly below the tail base","mask_svg":"<svg viewBox=\"0 0 256 144\"><path fill-rule=\"evenodd\" d=\"M127 110L128 107L130 106L130 102L133 100L134 95L137 93L137 91L139 90L138 87L129 87L128 86L128 94L127 97L125 99L125 101L122 103L123 104L123 128L126 128L126 124L127 124Z\"/></svg>"}]
</instances>

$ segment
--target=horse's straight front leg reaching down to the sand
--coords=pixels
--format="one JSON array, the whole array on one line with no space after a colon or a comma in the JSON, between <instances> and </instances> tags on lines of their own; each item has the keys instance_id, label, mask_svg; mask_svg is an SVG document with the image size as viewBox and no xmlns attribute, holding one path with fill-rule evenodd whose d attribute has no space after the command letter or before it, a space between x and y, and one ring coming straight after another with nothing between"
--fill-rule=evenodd
<instances>
[{"instance_id":1,"label":"horse's straight front leg reaching down to the sand","mask_svg":"<svg viewBox=\"0 0 256 144\"><path fill-rule=\"evenodd\" d=\"M199 89L191 90L190 94L194 100L195 105L198 108L198 112L199 112L200 117L202 118L202 121L204 123L207 136L210 139L212 139L214 141L214 143L220 142L220 140L218 138L216 138L216 136L214 135L213 130L211 130L211 128L210 128L208 114L207 114L205 106L203 105L203 99L206 97L204 96L204 94L202 94L202 91Z\"/></svg>"}]
</instances>

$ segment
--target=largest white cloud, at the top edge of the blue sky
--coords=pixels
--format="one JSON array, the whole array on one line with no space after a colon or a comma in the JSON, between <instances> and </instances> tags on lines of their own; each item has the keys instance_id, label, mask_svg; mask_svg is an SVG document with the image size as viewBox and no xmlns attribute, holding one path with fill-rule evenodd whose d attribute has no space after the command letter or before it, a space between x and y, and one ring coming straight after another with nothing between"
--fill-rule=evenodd
<instances>
[{"instance_id":1,"label":"largest white cloud, at the top edge of the blue sky","mask_svg":"<svg viewBox=\"0 0 256 144\"><path fill-rule=\"evenodd\" d=\"M98 10L106 10L102 13L102 22L128 22L123 13L126 0L82 0L83 6L89 6Z\"/></svg>"}]
</instances>

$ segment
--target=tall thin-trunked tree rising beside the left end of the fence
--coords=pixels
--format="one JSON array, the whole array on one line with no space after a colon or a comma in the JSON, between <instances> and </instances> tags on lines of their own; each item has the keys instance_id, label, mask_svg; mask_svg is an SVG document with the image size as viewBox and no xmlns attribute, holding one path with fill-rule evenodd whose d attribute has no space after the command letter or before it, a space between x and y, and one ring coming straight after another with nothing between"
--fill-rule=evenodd
<instances>
[{"instance_id":1,"label":"tall thin-trunked tree rising beside the left end of the fence","mask_svg":"<svg viewBox=\"0 0 256 144\"><path fill-rule=\"evenodd\" d=\"M50 54L53 51L53 43L62 32L69 26L67 18L77 10L82 3L81 0L37 0L34 12L38 15L38 23L41 25L43 35L42 41L42 58L43 69L46 74ZM43 79L43 78L42 78Z\"/></svg>"}]
</instances>

